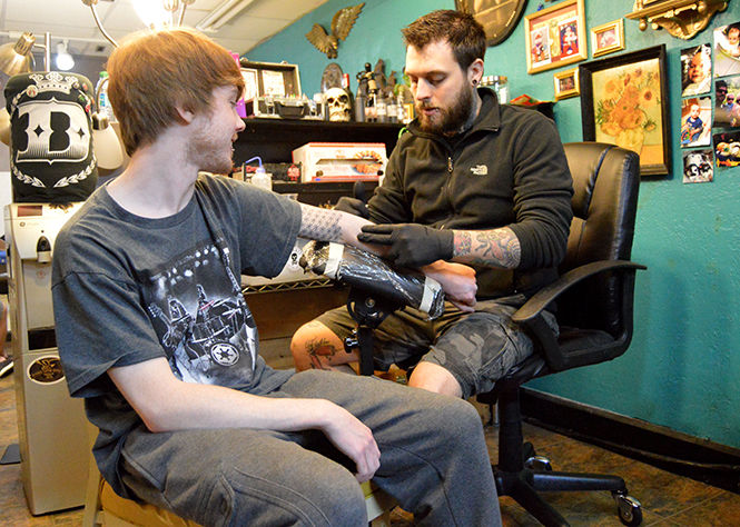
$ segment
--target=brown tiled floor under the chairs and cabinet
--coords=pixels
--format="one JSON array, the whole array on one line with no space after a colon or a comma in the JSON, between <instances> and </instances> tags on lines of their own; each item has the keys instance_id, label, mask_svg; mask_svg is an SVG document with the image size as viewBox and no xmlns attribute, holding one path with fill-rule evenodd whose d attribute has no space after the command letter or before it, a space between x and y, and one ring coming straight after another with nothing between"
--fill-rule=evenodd
<instances>
[{"instance_id":1,"label":"brown tiled floor under the chairs and cabinet","mask_svg":"<svg viewBox=\"0 0 740 527\"><path fill-rule=\"evenodd\" d=\"M285 357L282 358L285 361ZM525 425L525 437L537 453L550 457L553 468L570 471L619 474L630 494L642 503L643 525L737 526L740 525L740 496L692 479L674 476L601 448ZM486 430L489 449L496 457L496 430ZM13 376L0 379L0 455L18 441ZM553 493L549 501L573 526L620 526L609 493ZM501 499L504 525L535 526L537 523L510 498ZM392 516L394 526L411 525L402 510ZM20 465L0 466L0 526L79 526L82 509L33 517L29 514L20 480Z\"/></svg>"}]
</instances>

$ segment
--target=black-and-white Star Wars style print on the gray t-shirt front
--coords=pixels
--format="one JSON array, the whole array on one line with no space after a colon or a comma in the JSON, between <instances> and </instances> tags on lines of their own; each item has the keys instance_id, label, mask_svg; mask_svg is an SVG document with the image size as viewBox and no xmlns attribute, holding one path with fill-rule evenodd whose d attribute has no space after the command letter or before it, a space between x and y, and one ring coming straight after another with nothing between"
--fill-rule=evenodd
<instances>
[{"instance_id":1,"label":"black-and-white Star Wars style print on the gray t-shirt front","mask_svg":"<svg viewBox=\"0 0 740 527\"><path fill-rule=\"evenodd\" d=\"M147 309L175 375L189 382L247 387L257 327L244 296L208 241L150 277Z\"/></svg>"}]
</instances>

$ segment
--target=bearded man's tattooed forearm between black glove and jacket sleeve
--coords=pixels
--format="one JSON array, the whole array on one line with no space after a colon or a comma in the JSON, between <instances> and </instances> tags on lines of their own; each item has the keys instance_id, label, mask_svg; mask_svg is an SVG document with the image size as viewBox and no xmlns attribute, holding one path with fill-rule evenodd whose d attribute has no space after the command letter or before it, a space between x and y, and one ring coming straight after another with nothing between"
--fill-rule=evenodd
<instances>
[{"instance_id":1,"label":"bearded man's tattooed forearm between black glove and jacket sleeve","mask_svg":"<svg viewBox=\"0 0 740 527\"><path fill-rule=\"evenodd\" d=\"M509 228L455 230L455 261L513 269L521 256L519 238Z\"/></svg>"}]
</instances>

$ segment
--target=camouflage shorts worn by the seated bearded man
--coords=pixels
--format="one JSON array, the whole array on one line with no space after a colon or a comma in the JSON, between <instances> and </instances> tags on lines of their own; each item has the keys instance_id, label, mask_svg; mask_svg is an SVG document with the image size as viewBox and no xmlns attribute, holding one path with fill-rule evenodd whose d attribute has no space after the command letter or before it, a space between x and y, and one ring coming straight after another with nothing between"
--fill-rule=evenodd
<instances>
[{"instance_id":1,"label":"camouflage shorts worn by the seated bearded man","mask_svg":"<svg viewBox=\"0 0 740 527\"><path fill-rule=\"evenodd\" d=\"M472 314L445 302L444 314L435 320L413 308L396 311L374 332L375 367L434 362L457 379L464 398L490 391L510 368L532 355L532 341L511 321L524 300L521 295L483 300ZM552 314L545 312L545 319L558 328ZM318 321L341 339L355 328L346 307L325 312Z\"/></svg>"}]
</instances>

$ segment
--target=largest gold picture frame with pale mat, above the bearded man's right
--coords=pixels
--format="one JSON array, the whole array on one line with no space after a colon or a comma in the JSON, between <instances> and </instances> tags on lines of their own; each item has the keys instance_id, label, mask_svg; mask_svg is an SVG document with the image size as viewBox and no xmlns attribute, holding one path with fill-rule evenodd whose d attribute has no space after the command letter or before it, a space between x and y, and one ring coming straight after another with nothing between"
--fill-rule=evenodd
<instances>
[{"instance_id":1,"label":"largest gold picture frame with pale mat, above the bearded man's right","mask_svg":"<svg viewBox=\"0 0 740 527\"><path fill-rule=\"evenodd\" d=\"M556 60L553 60L552 44L547 47L547 60L541 60L537 63L532 53L532 32L541 31L542 29L549 28L547 41L550 42L550 36L553 29L553 22L556 29L559 20L569 20L571 18L575 19L576 23L576 38L578 38L578 51L570 57L561 59L558 56ZM546 24L546 26L544 26ZM562 66L572 64L573 62L580 62L589 58L586 32L585 32L585 10L583 8L583 0L565 0L555 6L535 11L532 14L524 17L524 40L526 42L526 72L537 73L540 71L551 70L553 68L560 68ZM560 47L558 48L560 52Z\"/></svg>"}]
</instances>

